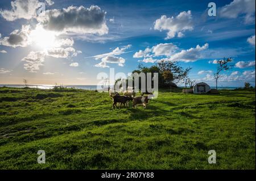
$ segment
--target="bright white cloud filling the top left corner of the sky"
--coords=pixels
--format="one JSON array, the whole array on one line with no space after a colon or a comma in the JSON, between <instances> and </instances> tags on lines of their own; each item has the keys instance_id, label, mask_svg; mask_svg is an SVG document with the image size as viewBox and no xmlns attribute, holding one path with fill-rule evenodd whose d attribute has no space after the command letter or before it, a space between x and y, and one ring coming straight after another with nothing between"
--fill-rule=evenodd
<instances>
[{"instance_id":1,"label":"bright white cloud filling the top left corner of the sky","mask_svg":"<svg viewBox=\"0 0 256 181\"><path fill-rule=\"evenodd\" d=\"M16 19L36 18L36 9L40 7L38 0L15 0L11 1L11 10L0 10L0 14L7 21Z\"/></svg>"}]
</instances>

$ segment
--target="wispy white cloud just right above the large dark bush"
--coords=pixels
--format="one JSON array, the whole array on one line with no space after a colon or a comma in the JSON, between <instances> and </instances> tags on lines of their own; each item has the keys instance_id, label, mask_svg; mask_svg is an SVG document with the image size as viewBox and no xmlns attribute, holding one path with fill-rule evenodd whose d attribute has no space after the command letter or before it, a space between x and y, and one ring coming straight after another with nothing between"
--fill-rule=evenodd
<instances>
[{"instance_id":1,"label":"wispy white cloud just right above the large dark bush","mask_svg":"<svg viewBox=\"0 0 256 181\"><path fill-rule=\"evenodd\" d=\"M202 47L197 45L196 48L190 48L187 50L181 50L179 53L175 53L170 57L171 61L184 61L184 62L191 62L196 61L200 58L203 58L201 55L201 51L208 49L208 43L204 44Z\"/></svg>"}]
</instances>

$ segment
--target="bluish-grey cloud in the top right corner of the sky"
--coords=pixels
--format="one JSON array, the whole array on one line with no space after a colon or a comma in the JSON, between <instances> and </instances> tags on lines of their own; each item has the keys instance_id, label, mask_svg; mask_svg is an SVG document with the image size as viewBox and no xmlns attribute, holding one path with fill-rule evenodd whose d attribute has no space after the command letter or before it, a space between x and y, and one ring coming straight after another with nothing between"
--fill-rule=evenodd
<instances>
[{"instance_id":1,"label":"bluish-grey cloud in the top right corner of the sky","mask_svg":"<svg viewBox=\"0 0 256 181\"><path fill-rule=\"evenodd\" d=\"M255 21L255 0L234 0L229 5L221 7L219 15L224 18L237 18L245 15L245 23Z\"/></svg>"}]
</instances>

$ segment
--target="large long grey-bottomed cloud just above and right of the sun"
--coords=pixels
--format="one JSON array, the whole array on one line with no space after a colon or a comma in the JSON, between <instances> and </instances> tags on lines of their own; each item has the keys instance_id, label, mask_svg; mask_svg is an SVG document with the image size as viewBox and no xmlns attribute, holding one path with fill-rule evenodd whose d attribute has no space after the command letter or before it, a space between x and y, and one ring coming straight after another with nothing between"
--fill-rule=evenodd
<instances>
[{"instance_id":1,"label":"large long grey-bottomed cloud just above and right of the sun","mask_svg":"<svg viewBox=\"0 0 256 181\"><path fill-rule=\"evenodd\" d=\"M104 35L108 33L105 15L106 12L98 6L69 6L67 9L47 10L45 15L40 14L36 19L46 30Z\"/></svg>"}]
</instances>

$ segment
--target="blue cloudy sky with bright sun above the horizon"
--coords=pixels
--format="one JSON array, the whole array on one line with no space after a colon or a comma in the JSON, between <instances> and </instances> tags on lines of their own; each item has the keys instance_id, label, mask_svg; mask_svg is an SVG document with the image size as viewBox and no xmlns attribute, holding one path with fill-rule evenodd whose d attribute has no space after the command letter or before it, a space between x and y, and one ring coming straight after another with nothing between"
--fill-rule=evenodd
<instances>
[{"instance_id":1,"label":"blue cloudy sky with bright sun above the horizon","mask_svg":"<svg viewBox=\"0 0 256 181\"><path fill-rule=\"evenodd\" d=\"M255 86L255 0L2 0L0 27L0 84L97 85L164 60L214 86L216 62L232 57L218 85Z\"/></svg>"}]
</instances>

